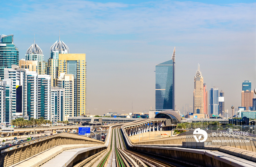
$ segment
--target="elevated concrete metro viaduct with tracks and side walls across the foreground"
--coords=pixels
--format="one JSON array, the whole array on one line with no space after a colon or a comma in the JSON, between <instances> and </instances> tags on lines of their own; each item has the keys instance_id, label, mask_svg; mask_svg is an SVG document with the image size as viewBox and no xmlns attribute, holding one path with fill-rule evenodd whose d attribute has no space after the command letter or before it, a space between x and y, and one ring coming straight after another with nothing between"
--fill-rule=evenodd
<instances>
[{"instance_id":1,"label":"elevated concrete metro viaduct with tracks and side walls across the foreground","mask_svg":"<svg viewBox=\"0 0 256 167\"><path fill-rule=\"evenodd\" d=\"M256 166L255 137L207 132L207 140L197 143L193 130L174 137L161 135L165 133L159 131L163 121L161 118L140 119L113 124L104 143L76 134L60 133L2 148L0 166ZM149 140L145 137L154 133L159 133L160 138L151 137ZM134 139L143 134L143 141ZM199 134L196 136L200 139ZM249 142L229 142L233 140Z\"/></svg>"}]
</instances>

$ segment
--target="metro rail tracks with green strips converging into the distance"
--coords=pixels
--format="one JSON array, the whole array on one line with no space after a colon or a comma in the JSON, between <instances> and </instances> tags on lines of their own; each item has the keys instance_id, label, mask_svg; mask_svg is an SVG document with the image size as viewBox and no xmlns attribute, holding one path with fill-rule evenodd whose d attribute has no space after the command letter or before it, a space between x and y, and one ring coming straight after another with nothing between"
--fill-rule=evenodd
<instances>
[{"instance_id":1,"label":"metro rail tracks with green strips converging into the distance","mask_svg":"<svg viewBox=\"0 0 256 167\"><path fill-rule=\"evenodd\" d=\"M184 167L180 164L171 164L164 157L152 157L129 149L121 125L113 126L109 132L108 148L74 167Z\"/></svg>"}]
</instances>

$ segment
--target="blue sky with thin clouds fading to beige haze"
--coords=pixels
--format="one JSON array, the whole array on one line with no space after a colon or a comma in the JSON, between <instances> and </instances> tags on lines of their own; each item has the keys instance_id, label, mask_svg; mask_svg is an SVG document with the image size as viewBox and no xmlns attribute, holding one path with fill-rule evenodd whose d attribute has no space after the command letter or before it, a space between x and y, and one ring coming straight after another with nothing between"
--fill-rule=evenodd
<instances>
[{"instance_id":1,"label":"blue sky with thin clouds fading to beige haze","mask_svg":"<svg viewBox=\"0 0 256 167\"><path fill-rule=\"evenodd\" d=\"M14 34L19 58L34 42L45 61L60 39L86 53L91 114L155 109L155 65L176 47L176 110L193 106L197 65L225 109L241 106L242 82L256 87L256 1L0 1L0 34Z\"/></svg>"}]
</instances>

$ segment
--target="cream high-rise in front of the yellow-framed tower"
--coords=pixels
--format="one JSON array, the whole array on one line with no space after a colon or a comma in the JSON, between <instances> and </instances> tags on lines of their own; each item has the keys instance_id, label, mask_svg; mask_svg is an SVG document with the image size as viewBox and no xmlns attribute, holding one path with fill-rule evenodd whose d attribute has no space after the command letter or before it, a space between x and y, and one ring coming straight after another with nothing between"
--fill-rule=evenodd
<instances>
[{"instance_id":1,"label":"cream high-rise in front of the yellow-framed tower","mask_svg":"<svg viewBox=\"0 0 256 167\"><path fill-rule=\"evenodd\" d=\"M67 120L68 117L74 117L75 113L75 77L73 74L60 73L57 80L57 86L64 89L64 110L63 119Z\"/></svg>"}]
</instances>

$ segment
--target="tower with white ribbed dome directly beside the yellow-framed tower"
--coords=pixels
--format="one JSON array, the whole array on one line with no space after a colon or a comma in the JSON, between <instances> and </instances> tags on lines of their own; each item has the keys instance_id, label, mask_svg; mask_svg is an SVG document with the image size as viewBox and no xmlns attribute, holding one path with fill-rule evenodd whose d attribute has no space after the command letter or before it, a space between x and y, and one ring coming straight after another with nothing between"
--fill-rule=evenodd
<instances>
[{"instance_id":1,"label":"tower with white ribbed dome directly beside the yellow-framed tower","mask_svg":"<svg viewBox=\"0 0 256 167\"><path fill-rule=\"evenodd\" d=\"M56 86L57 84L57 77L58 77L58 67L59 67L59 54L68 54L69 48L68 46L63 42L56 41L51 47L50 47L50 55L51 57L48 59L48 67L47 67L47 74L52 76L52 86Z\"/></svg>"}]
</instances>

